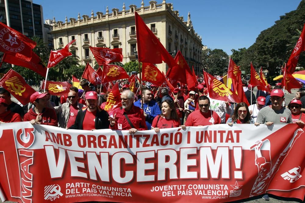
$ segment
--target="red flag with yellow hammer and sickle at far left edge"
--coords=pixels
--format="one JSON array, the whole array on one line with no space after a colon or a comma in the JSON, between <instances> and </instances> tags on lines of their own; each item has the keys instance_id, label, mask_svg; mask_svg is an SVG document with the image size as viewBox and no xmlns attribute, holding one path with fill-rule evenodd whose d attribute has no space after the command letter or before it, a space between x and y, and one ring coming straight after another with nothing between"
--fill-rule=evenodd
<instances>
[{"instance_id":1,"label":"red flag with yellow hammer and sickle at far left edge","mask_svg":"<svg viewBox=\"0 0 305 203\"><path fill-rule=\"evenodd\" d=\"M0 86L9 91L20 103L26 105L30 102L30 96L36 91L29 86L23 77L13 69L10 69L0 80Z\"/></svg>"}]
</instances>

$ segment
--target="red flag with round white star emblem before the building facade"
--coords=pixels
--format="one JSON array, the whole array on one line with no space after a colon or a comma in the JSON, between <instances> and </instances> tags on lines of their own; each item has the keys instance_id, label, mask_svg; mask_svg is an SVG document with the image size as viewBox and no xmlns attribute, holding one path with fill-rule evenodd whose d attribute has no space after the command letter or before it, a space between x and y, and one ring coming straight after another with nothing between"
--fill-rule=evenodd
<instances>
[{"instance_id":1,"label":"red flag with round white star emblem before the building facade","mask_svg":"<svg viewBox=\"0 0 305 203\"><path fill-rule=\"evenodd\" d=\"M96 62L99 65L103 65L104 62L107 64L111 62L123 61L122 48L101 48L101 47L89 47Z\"/></svg>"}]
</instances>

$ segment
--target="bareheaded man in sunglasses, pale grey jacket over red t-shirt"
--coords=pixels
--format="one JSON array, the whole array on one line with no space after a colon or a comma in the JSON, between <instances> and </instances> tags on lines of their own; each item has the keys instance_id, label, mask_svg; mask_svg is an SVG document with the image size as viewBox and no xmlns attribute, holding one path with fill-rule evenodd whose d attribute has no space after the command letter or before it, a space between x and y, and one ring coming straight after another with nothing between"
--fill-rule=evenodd
<instances>
[{"instance_id":1,"label":"bareheaded man in sunglasses, pale grey jacket over red t-shirt","mask_svg":"<svg viewBox=\"0 0 305 203\"><path fill-rule=\"evenodd\" d=\"M54 107L58 115L58 127L70 128L74 124L78 111L84 107L84 104L77 101L78 99L78 89L76 87L70 87L68 103Z\"/></svg>"}]
</instances>

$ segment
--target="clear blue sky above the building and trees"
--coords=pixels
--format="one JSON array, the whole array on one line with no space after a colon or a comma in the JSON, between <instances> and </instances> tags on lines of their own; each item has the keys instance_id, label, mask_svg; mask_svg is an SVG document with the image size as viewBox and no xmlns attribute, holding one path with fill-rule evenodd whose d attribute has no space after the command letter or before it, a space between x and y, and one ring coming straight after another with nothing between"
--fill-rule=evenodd
<instances>
[{"instance_id":1,"label":"clear blue sky above the building and trees","mask_svg":"<svg viewBox=\"0 0 305 203\"><path fill-rule=\"evenodd\" d=\"M65 21L66 16L77 19L78 12L91 16L91 10L105 13L117 8L122 10L123 2L141 7L142 0L33 0L43 6L44 19L56 18ZM156 0L157 4L162 0ZM144 0L149 5L149 0ZM195 31L202 36L202 44L211 49L223 49L231 54L231 49L251 46L261 31L274 25L279 16L295 10L300 0L166 0L173 3L174 10L187 19L188 11ZM95 14L96 15L96 14ZM300 30L302 27L300 27Z\"/></svg>"}]
</instances>

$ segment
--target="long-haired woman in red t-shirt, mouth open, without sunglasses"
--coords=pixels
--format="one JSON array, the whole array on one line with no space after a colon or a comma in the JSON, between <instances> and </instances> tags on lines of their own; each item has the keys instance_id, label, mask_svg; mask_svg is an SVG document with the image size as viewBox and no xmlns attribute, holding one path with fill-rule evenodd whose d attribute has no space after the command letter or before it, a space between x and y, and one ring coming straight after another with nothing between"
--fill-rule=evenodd
<instances>
[{"instance_id":1,"label":"long-haired woman in red t-shirt, mouth open, without sunglasses","mask_svg":"<svg viewBox=\"0 0 305 203\"><path fill-rule=\"evenodd\" d=\"M152 129L156 133L160 132L163 128L177 128L181 127L185 130L185 125L180 125L180 119L178 117L174 102L172 100L165 100L161 104L161 114L156 116L152 121Z\"/></svg>"}]
</instances>

